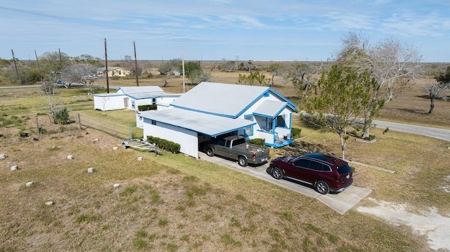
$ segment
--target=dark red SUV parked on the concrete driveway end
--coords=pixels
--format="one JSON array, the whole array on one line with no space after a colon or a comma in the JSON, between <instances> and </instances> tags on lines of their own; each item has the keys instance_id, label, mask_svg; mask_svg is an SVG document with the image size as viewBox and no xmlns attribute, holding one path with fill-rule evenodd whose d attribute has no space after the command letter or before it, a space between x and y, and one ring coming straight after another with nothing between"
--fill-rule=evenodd
<instances>
[{"instance_id":1,"label":"dark red SUV parked on the concrete driveway end","mask_svg":"<svg viewBox=\"0 0 450 252\"><path fill-rule=\"evenodd\" d=\"M290 178L306 183L321 194L342 192L353 183L353 170L346 161L317 152L277 157L270 162L269 171L277 180Z\"/></svg>"}]
</instances>

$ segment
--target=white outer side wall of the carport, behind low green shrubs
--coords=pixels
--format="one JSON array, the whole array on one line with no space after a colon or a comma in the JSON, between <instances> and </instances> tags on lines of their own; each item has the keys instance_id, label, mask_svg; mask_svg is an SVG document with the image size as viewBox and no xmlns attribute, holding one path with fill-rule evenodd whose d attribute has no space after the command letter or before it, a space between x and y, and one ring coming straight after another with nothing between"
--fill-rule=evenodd
<instances>
[{"instance_id":1,"label":"white outer side wall of the carport, behind low green shrubs","mask_svg":"<svg viewBox=\"0 0 450 252\"><path fill-rule=\"evenodd\" d=\"M156 125L151 124L150 119L143 119L143 137L153 135L158 138L163 138L181 145L180 152L188 154L191 157L198 159L198 135L195 131L189 131L186 128L180 128L168 124L156 122Z\"/></svg>"}]
</instances>

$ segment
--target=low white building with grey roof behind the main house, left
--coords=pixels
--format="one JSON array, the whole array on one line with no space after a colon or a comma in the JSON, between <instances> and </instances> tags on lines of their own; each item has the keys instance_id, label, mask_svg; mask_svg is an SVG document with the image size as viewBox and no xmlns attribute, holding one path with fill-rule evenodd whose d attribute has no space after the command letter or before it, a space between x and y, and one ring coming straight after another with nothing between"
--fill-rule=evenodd
<instances>
[{"instance_id":1,"label":"low white building with grey roof behind the main house, left","mask_svg":"<svg viewBox=\"0 0 450 252\"><path fill-rule=\"evenodd\" d=\"M158 110L162 110L180 95L166 93L159 86L124 86L117 88L115 93L99 93L92 96L95 110L138 111L141 105L157 105Z\"/></svg>"}]
</instances>

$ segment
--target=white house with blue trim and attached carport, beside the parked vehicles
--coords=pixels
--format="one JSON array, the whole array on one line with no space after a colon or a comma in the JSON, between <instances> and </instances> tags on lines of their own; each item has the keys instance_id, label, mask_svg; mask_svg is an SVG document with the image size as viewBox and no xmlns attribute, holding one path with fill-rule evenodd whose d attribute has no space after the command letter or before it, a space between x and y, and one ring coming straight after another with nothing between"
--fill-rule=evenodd
<instances>
[{"instance_id":1,"label":"white house with blue trim and attached carport, beside the parked vehicles","mask_svg":"<svg viewBox=\"0 0 450 252\"><path fill-rule=\"evenodd\" d=\"M141 112L143 135L181 145L198 158L199 145L212 138L237 134L264 138L281 147L290 138L296 105L270 87L202 82L174 100L167 110Z\"/></svg>"}]
</instances>

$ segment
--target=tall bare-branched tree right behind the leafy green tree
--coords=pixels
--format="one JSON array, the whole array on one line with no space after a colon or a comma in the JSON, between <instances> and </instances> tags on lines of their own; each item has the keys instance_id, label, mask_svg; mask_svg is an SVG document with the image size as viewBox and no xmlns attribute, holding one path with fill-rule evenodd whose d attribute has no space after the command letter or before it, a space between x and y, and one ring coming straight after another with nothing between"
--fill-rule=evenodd
<instances>
[{"instance_id":1,"label":"tall bare-branched tree right behind the leafy green tree","mask_svg":"<svg viewBox=\"0 0 450 252\"><path fill-rule=\"evenodd\" d=\"M364 115L364 137L368 137L372 119L380 111L380 105L390 102L418 76L422 56L413 46L402 44L397 39L385 39L371 46L368 39L350 32L342 39L342 49L337 61L358 72L368 71L378 82L379 88L373 89L371 102L368 102ZM384 102L380 103L379 98Z\"/></svg>"}]
</instances>

